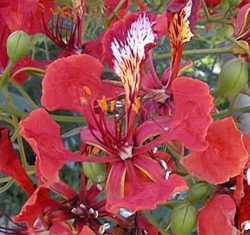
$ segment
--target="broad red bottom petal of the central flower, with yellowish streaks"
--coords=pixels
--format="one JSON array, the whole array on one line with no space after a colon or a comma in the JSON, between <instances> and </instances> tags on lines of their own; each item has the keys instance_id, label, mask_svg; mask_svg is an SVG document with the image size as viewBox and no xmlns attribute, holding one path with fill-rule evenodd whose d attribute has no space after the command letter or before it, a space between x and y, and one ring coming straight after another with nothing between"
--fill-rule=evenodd
<instances>
[{"instance_id":1,"label":"broad red bottom petal of the central flower, with yellowish streaks","mask_svg":"<svg viewBox=\"0 0 250 235\"><path fill-rule=\"evenodd\" d=\"M108 211L117 213L121 208L131 212L151 210L171 199L174 193L187 189L182 177L171 175L165 180L163 178L164 172L158 164L152 164L148 160L145 160L145 164L142 164L142 160L135 160L136 163L133 168L134 172L139 172L138 169L140 168L141 175L139 173L134 174L130 168L126 170L123 166L124 163L119 163L115 168L111 168L112 171L107 181L109 191L107 191L106 208ZM155 162L152 159L150 161ZM129 164L129 162L127 163ZM145 165L148 166L145 167ZM135 167L139 168L136 169ZM149 177L151 177L151 180ZM118 189L123 189L123 192L117 192Z\"/></svg>"}]
</instances>

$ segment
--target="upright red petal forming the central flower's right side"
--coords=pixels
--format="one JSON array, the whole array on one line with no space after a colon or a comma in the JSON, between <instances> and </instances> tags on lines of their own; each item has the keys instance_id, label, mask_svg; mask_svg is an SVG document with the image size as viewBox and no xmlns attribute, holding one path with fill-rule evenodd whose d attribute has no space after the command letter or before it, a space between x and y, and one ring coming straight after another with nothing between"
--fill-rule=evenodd
<instances>
[{"instance_id":1,"label":"upright red petal forming the central flower's right side","mask_svg":"<svg viewBox=\"0 0 250 235\"><path fill-rule=\"evenodd\" d=\"M170 121L168 137L199 151L207 147L207 129L212 122L213 99L206 83L191 78L172 83L175 115ZM195 91L195 92L194 92Z\"/></svg>"}]
</instances>

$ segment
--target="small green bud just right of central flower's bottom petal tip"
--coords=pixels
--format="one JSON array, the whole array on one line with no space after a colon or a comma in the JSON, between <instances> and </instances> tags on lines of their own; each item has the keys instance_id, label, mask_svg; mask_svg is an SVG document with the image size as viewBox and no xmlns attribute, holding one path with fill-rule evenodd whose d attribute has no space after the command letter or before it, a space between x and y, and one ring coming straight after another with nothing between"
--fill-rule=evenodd
<instances>
[{"instance_id":1,"label":"small green bud just right of central flower's bottom petal tip","mask_svg":"<svg viewBox=\"0 0 250 235\"><path fill-rule=\"evenodd\" d=\"M198 183L191 187L188 193L188 200L191 203L200 202L206 199L211 192L211 186L207 183Z\"/></svg>"}]
</instances>

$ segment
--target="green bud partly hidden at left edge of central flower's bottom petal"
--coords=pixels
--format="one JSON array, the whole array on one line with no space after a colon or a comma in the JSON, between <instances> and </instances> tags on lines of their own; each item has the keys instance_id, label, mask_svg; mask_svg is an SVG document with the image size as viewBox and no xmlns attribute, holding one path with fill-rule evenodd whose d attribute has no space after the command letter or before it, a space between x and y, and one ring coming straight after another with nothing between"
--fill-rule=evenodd
<instances>
[{"instance_id":1,"label":"green bud partly hidden at left edge of central flower's bottom petal","mask_svg":"<svg viewBox=\"0 0 250 235\"><path fill-rule=\"evenodd\" d=\"M106 166L100 163L86 162L83 164L83 172L94 183L103 183L106 179Z\"/></svg>"}]
</instances>

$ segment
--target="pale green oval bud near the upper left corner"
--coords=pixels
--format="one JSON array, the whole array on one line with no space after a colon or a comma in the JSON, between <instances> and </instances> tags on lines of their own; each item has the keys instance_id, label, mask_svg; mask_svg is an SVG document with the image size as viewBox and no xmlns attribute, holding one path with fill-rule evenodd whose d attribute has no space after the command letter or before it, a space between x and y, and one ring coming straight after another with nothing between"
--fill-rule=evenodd
<instances>
[{"instance_id":1,"label":"pale green oval bud near the upper left corner","mask_svg":"<svg viewBox=\"0 0 250 235\"><path fill-rule=\"evenodd\" d=\"M31 37L23 31L15 31L7 39L7 55L12 63L24 58L31 46Z\"/></svg>"}]
</instances>

